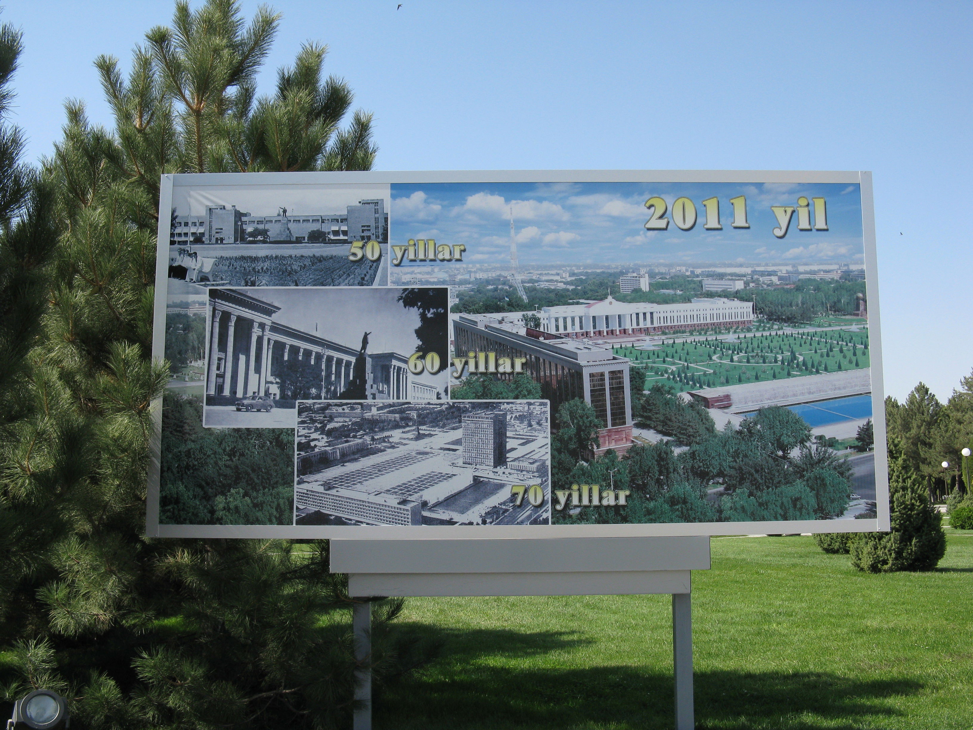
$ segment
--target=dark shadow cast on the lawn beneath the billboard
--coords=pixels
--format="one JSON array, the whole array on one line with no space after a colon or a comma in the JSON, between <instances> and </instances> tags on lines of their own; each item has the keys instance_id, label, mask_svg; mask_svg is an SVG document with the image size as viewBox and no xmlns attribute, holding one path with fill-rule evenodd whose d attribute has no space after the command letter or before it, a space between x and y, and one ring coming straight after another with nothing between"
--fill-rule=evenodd
<instances>
[{"instance_id":1,"label":"dark shadow cast on the lawn beneath the billboard","mask_svg":"<svg viewBox=\"0 0 973 730\"><path fill-rule=\"evenodd\" d=\"M410 628L442 641L444 651L419 675L377 693L377 728L634 730L673 725L671 669L661 671L655 659L655 667L579 669L569 664L583 660L585 646L594 640L574 632ZM537 660L550 664L543 655L561 652L564 669L537 666ZM503 663L492 663L491 657ZM511 660L522 666L511 666ZM694 683L697 726L721 730L874 727L876 720L881 724L883 717L902 714L885 698L916 694L924 686L906 676L739 671L697 672Z\"/></svg>"}]
</instances>

